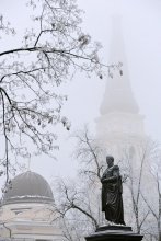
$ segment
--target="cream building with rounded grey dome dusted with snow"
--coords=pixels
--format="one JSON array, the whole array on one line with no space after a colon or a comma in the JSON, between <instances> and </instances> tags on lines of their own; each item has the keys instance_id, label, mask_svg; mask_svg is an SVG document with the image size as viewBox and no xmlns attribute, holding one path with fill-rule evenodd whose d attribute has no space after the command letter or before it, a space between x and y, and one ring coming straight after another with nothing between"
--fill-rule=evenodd
<instances>
[{"instance_id":1,"label":"cream building with rounded grey dome dusted with snow","mask_svg":"<svg viewBox=\"0 0 161 241\"><path fill-rule=\"evenodd\" d=\"M35 172L15 176L0 208L0 238L14 240L62 240L54 196L46 180Z\"/></svg>"}]
</instances>

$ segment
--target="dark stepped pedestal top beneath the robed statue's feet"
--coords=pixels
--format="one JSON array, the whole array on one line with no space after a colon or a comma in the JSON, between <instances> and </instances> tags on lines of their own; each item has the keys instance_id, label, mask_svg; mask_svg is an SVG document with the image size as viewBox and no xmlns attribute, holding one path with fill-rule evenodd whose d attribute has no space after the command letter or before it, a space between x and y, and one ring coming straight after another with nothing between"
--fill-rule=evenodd
<instances>
[{"instance_id":1,"label":"dark stepped pedestal top beneath the robed statue's feet","mask_svg":"<svg viewBox=\"0 0 161 241\"><path fill-rule=\"evenodd\" d=\"M134 233L127 226L102 226L87 241L140 241L143 236Z\"/></svg>"}]
</instances>

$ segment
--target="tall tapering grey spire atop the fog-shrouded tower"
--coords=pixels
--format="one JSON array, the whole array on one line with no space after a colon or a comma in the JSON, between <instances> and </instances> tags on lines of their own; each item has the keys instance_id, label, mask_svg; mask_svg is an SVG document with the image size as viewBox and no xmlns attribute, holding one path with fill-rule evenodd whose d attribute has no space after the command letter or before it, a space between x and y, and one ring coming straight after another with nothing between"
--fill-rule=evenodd
<instances>
[{"instance_id":1,"label":"tall tapering grey spire atop the fog-shrouded tower","mask_svg":"<svg viewBox=\"0 0 161 241\"><path fill-rule=\"evenodd\" d=\"M114 70L113 78L108 78L100 112L101 115L113 112L137 114L139 113L139 107L135 101L129 81L120 16L113 16L112 30L110 62L122 62L123 76L117 70Z\"/></svg>"}]
</instances>

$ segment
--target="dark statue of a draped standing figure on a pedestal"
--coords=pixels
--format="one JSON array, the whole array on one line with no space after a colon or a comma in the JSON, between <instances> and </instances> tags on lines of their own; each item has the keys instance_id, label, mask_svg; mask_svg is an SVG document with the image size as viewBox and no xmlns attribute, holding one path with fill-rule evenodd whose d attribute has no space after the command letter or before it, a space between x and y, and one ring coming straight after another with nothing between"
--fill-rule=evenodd
<instances>
[{"instance_id":1,"label":"dark statue of a draped standing figure on a pedestal","mask_svg":"<svg viewBox=\"0 0 161 241\"><path fill-rule=\"evenodd\" d=\"M107 169L103 173L102 182L102 211L105 219L117 225L125 225L123 209L123 186L119 167L114 165L114 158L106 157Z\"/></svg>"}]
</instances>

